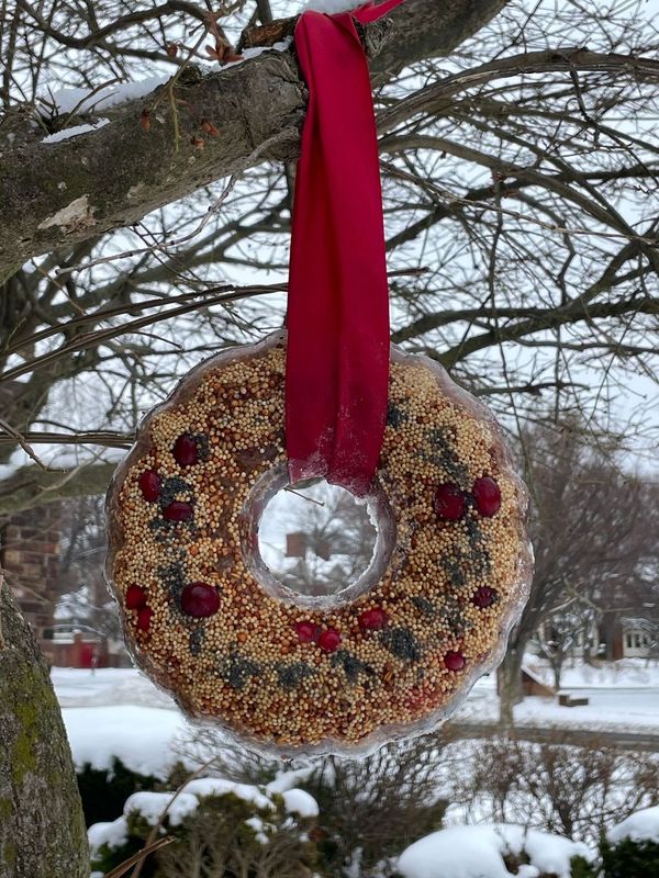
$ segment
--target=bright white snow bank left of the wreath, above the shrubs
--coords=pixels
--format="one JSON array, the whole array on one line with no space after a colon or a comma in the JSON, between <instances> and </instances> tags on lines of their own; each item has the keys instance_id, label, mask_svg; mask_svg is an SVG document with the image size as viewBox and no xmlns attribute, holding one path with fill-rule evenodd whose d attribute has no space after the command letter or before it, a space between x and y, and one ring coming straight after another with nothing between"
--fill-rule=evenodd
<instances>
[{"instance_id":1,"label":"bright white snow bank left of the wreath, above the shrubs","mask_svg":"<svg viewBox=\"0 0 659 878\"><path fill-rule=\"evenodd\" d=\"M161 708L113 705L62 713L77 768L89 763L109 769L118 756L132 772L165 779L181 761L177 741L190 734L181 713Z\"/></svg>"}]
</instances>

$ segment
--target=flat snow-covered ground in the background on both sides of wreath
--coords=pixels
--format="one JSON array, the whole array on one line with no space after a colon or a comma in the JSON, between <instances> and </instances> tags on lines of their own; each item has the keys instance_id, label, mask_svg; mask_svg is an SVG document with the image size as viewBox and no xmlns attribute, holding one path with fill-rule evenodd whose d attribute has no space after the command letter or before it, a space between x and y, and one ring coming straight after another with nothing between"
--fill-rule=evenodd
<instances>
[{"instance_id":1,"label":"flat snow-covered ground in the background on both sides of wreath","mask_svg":"<svg viewBox=\"0 0 659 878\"><path fill-rule=\"evenodd\" d=\"M89 762L101 768L116 755L133 770L166 775L193 731L172 699L133 668L102 668L92 674L55 667L52 677L78 765ZM569 668L563 689L588 696L588 707L566 708L551 699L526 698L515 708L516 723L593 731L659 730L657 664L627 660L599 669ZM455 721L491 723L498 712L494 678L483 677Z\"/></svg>"}]
</instances>

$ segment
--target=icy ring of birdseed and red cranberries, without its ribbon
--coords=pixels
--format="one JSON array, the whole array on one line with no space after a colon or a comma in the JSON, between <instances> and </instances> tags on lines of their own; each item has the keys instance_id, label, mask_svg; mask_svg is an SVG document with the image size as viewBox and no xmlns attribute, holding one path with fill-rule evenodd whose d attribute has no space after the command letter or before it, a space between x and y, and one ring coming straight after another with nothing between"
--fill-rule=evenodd
<instances>
[{"instance_id":1,"label":"icy ring of birdseed and red cranberries, without its ribbon","mask_svg":"<svg viewBox=\"0 0 659 878\"><path fill-rule=\"evenodd\" d=\"M258 551L287 484L284 345L214 357L146 418L109 492L108 578L137 664L193 718L279 754L364 752L432 728L501 658L526 492L487 409L392 349L370 571L290 590Z\"/></svg>"}]
</instances>

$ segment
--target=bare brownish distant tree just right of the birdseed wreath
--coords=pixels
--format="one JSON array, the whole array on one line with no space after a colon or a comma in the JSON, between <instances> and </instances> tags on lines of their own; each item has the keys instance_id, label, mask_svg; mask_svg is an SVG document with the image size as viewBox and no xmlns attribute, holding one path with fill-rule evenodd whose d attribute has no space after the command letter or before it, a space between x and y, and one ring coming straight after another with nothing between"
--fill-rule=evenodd
<instances>
[{"instance_id":1,"label":"bare brownish distant tree just right of the birdseed wreath","mask_svg":"<svg viewBox=\"0 0 659 878\"><path fill-rule=\"evenodd\" d=\"M530 489L529 532L536 566L530 596L499 672L501 720L513 722L521 700L524 651L543 622L562 626L554 669L567 642L583 630L583 612L602 618L613 594L638 606L636 582L657 563L659 483L625 472L619 448L592 443L583 424L535 426L522 431L524 475ZM616 583L612 593L611 583ZM619 614L619 603L615 611ZM592 617L591 617L592 618ZM562 620L562 621L560 621ZM559 661L561 657L561 661Z\"/></svg>"}]
</instances>

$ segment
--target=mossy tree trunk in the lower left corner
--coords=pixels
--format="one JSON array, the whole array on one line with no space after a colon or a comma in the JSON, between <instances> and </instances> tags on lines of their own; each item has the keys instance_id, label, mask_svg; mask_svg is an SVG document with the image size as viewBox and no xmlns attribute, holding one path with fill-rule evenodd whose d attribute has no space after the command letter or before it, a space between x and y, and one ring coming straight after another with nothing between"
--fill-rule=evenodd
<instances>
[{"instance_id":1,"label":"mossy tree trunk in the lower left corner","mask_svg":"<svg viewBox=\"0 0 659 878\"><path fill-rule=\"evenodd\" d=\"M85 820L59 706L1 575L0 621L0 876L87 878Z\"/></svg>"}]
</instances>

